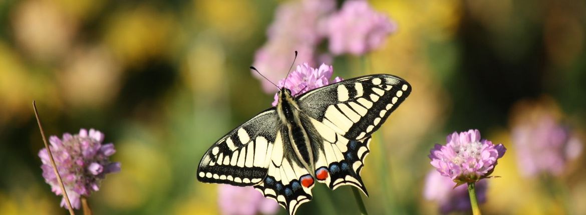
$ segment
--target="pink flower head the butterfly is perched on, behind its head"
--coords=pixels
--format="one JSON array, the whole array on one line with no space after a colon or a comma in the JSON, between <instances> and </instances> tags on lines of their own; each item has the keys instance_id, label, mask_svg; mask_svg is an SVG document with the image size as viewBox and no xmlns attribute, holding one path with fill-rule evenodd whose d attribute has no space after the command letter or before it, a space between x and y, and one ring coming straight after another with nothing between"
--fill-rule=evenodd
<instances>
[{"instance_id":1,"label":"pink flower head the butterfly is perched on, behind its head","mask_svg":"<svg viewBox=\"0 0 586 215\"><path fill-rule=\"evenodd\" d=\"M287 78L279 81L279 88L283 86L291 91L291 95L301 95L301 93L311 91L315 88L320 88L329 84L340 82L343 79L336 77L330 81L333 75L332 65L322 64L319 68L309 67L308 63L297 65L297 69L289 74ZM287 82L285 82L285 79ZM275 100L272 106L277 106L279 96L275 93Z\"/></svg>"}]
</instances>

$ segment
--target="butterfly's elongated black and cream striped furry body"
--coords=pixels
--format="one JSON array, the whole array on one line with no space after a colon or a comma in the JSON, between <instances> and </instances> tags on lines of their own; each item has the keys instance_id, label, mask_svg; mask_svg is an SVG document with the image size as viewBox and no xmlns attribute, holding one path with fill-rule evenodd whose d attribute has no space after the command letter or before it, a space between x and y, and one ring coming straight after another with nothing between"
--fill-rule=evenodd
<instances>
[{"instance_id":1,"label":"butterfly's elongated black and cream striped furry body","mask_svg":"<svg viewBox=\"0 0 586 215\"><path fill-rule=\"evenodd\" d=\"M301 164L313 173L314 156L309 141L308 132L306 131L301 118L299 117L299 106L295 98L291 95L291 91L287 88L281 88L278 92L277 113L282 123L283 129L287 130L287 137L289 141L284 141L285 144L291 144L291 148L295 151L298 160Z\"/></svg>"}]
</instances>

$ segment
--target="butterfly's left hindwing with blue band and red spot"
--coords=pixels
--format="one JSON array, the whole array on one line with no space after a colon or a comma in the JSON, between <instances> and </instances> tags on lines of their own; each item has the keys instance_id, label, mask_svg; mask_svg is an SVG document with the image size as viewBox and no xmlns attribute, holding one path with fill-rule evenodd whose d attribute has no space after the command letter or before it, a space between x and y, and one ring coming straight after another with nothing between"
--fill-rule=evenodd
<instances>
[{"instance_id":1,"label":"butterfly's left hindwing with blue band and red spot","mask_svg":"<svg viewBox=\"0 0 586 215\"><path fill-rule=\"evenodd\" d=\"M311 201L314 179L307 169L302 168L294 154L288 153L288 135L281 129L273 148L268 174L261 183L254 186L265 197L274 199L289 214L295 214L301 204Z\"/></svg>"}]
</instances>

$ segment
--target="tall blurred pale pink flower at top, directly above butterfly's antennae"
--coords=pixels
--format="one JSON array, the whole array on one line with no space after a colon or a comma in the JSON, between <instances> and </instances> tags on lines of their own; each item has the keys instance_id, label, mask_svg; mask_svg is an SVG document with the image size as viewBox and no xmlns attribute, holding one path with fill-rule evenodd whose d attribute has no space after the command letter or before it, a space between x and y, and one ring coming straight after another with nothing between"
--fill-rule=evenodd
<instances>
[{"instance_id":1,"label":"tall blurred pale pink flower at top, directly above butterfly's antennae","mask_svg":"<svg viewBox=\"0 0 586 215\"><path fill-rule=\"evenodd\" d=\"M315 64L315 46L323 40L318 23L335 9L333 0L302 0L287 2L278 7L275 19L267 30L268 41L257 50L253 65L270 80L285 76L293 62L294 51L298 62ZM277 89L253 71L263 84L265 92Z\"/></svg>"}]
</instances>

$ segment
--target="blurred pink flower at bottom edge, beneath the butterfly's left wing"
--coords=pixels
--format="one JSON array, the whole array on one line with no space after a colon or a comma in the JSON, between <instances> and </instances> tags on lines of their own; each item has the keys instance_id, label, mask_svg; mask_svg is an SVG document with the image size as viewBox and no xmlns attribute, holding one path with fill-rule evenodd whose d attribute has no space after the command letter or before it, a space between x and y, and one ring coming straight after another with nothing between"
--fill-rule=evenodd
<instances>
[{"instance_id":1,"label":"blurred pink flower at bottom edge, beneath the butterfly's left wing","mask_svg":"<svg viewBox=\"0 0 586 215\"><path fill-rule=\"evenodd\" d=\"M222 214L226 215L275 214L279 209L277 202L265 198L250 186L219 185L218 204Z\"/></svg>"}]
</instances>

